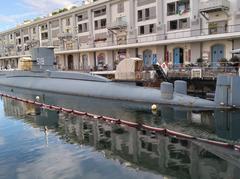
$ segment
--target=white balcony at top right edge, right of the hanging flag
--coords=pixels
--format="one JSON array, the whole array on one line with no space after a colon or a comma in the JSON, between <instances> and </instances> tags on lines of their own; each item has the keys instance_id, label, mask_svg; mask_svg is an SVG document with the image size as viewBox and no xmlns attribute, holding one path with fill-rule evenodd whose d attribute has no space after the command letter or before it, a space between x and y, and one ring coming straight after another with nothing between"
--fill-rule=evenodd
<instances>
[{"instance_id":1,"label":"white balcony at top right edge, right of the hanging flag","mask_svg":"<svg viewBox=\"0 0 240 179\"><path fill-rule=\"evenodd\" d=\"M228 0L208 0L200 2L199 10L202 13L228 11L230 9L230 2Z\"/></svg>"}]
</instances>

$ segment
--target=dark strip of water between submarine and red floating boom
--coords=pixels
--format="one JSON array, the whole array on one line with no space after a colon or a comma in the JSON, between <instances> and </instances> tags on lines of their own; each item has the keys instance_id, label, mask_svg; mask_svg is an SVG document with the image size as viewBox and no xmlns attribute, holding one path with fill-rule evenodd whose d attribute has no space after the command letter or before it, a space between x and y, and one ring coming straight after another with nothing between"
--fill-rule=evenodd
<instances>
[{"instance_id":1,"label":"dark strip of water between submarine and red floating boom","mask_svg":"<svg viewBox=\"0 0 240 179\"><path fill-rule=\"evenodd\" d=\"M215 140L239 141L240 110L238 111L201 111L172 106L158 106L158 112L151 111L152 104L138 104L116 100L105 100L89 97L60 95L41 91L2 88L9 95L57 105L97 115L145 123L186 133L196 137Z\"/></svg>"}]
</instances>

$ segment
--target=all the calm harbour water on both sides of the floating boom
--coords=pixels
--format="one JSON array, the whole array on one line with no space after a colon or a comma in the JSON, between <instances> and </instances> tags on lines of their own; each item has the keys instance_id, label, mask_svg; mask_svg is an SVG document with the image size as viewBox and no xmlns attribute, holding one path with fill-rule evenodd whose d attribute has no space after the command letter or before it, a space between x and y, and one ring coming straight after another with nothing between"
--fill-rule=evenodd
<instances>
[{"instance_id":1,"label":"all the calm harbour water on both sides of the floating boom","mask_svg":"<svg viewBox=\"0 0 240 179\"><path fill-rule=\"evenodd\" d=\"M199 111L4 89L9 94L96 114L240 143L239 111ZM48 128L45 131L45 128ZM86 117L0 100L0 178L240 177L240 153Z\"/></svg>"}]
</instances>

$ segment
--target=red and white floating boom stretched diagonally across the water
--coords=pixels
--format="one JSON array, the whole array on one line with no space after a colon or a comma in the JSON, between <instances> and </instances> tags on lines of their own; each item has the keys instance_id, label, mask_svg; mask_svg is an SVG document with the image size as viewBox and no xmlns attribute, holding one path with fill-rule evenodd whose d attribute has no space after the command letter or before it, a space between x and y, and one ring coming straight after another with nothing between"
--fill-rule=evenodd
<instances>
[{"instance_id":1,"label":"red and white floating boom stretched diagonally across the water","mask_svg":"<svg viewBox=\"0 0 240 179\"><path fill-rule=\"evenodd\" d=\"M164 136L169 136L169 137L178 137L178 138L181 138L181 139L196 140L196 141L200 141L200 142L204 142L204 143L208 143L208 144L213 144L213 145L224 147L224 148L233 149L233 150L236 150L236 151L240 152L240 145L234 145L234 144L230 144L230 143L227 143L227 142L219 142L219 141L215 141L215 140L204 139L204 138L201 138L201 137L194 137L194 136L191 136L191 135L183 134L183 133L176 132L176 131L173 131L173 130L169 130L169 129L166 129L166 128L152 127L152 126L148 126L148 125L145 125L145 124L130 122L130 121L116 119L116 118L112 118L112 117L101 116L101 115L97 115L97 114L82 112L82 111L68 109L68 108L59 107L59 106L55 106L55 105L48 105L48 104L40 103L38 101L27 100L27 99L15 97L15 96L10 96L10 95L3 94L3 93L0 93L0 96L10 98L10 99L13 99L13 100L17 100L17 101L21 101L21 102L28 103L28 104L33 104L33 105L36 105L36 106L38 106L42 109L59 111L59 112L64 112L64 113L73 114L73 115L77 115L77 116L87 116L87 117L90 117L90 118L93 118L93 119L96 119L96 120L102 120L102 121L105 121L105 122L110 122L112 124L125 125L125 126L128 126L128 127L137 128L137 129L145 129L145 130L160 133Z\"/></svg>"}]
</instances>

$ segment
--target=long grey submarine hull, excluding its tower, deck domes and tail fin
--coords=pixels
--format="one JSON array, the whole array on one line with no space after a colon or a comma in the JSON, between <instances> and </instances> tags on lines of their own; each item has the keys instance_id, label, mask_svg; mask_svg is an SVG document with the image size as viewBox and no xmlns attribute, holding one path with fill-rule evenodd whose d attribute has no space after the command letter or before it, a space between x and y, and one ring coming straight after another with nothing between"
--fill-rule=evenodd
<instances>
[{"instance_id":1,"label":"long grey submarine hull, excluding its tower, deck domes and tail fin","mask_svg":"<svg viewBox=\"0 0 240 179\"><path fill-rule=\"evenodd\" d=\"M139 103L217 108L213 101L179 93L173 93L172 99L164 99L160 89L126 85L74 72L1 73L0 86Z\"/></svg>"}]
</instances>

